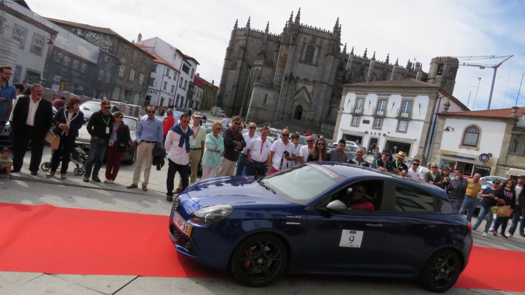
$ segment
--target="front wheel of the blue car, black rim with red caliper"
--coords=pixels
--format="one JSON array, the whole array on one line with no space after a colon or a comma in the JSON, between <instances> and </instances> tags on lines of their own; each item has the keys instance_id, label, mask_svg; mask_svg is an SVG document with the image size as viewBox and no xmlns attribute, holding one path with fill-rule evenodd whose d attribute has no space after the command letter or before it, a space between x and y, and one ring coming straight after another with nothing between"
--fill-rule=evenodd
<instances>
[{"instance_id":1,"label":"front wheel of the blue car, black rim with red caliper","mask_svg":"<svg viewBox=\"0 0 525 295\"><path fill-rule=\"evenodd\" d=\"M264 287L282 275L287 262L287 249L278 237L257 234L237 245L230 269L241 285Z\"/></svg>"}]
</instances>

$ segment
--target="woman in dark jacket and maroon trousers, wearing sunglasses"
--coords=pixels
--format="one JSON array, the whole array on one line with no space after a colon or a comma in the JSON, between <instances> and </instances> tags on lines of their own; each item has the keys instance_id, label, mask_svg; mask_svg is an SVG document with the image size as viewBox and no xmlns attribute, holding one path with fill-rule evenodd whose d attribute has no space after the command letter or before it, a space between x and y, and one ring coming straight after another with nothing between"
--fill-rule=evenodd
<instances>
[{"instance_id":1,"label":"woman in dark jacket and maroon trousers, wearing sunglasses","mask_svg":"<svg viewBox=\"0 0 525 295\"><path fill-rule=\"evenodd\" d=\"M113 127L106 149L106 180L104 183L113 183L120 170L120 163L124 153L131 146L130 128L124 124L124 115L117 111L113 113Z\"/></svg>"}]
</instances>

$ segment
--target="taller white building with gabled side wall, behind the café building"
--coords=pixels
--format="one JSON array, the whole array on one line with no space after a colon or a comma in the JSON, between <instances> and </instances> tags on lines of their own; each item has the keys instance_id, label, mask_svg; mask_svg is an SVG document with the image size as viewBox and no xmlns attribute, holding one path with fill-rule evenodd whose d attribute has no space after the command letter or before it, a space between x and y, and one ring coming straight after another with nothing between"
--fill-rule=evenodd
<instances>
[{"instance_id":1,"label":"taller white building with gabled side wall, behind the caf\u00e9 building","mask_svg":"<svg viewBox=\"0 0 525 295\"><path fill-rule=\"evenodd\" d=\"M150 47L150 50L158 57L170 64L180 73L177 75L177 86L175 87L175 107L188 107L187 99L188 84L193 81L193 76L199 65L198 61L191 56L185 55L174 46L159 37L146 40L138 38L137 44Z\"/></svg>"}]
</instances>

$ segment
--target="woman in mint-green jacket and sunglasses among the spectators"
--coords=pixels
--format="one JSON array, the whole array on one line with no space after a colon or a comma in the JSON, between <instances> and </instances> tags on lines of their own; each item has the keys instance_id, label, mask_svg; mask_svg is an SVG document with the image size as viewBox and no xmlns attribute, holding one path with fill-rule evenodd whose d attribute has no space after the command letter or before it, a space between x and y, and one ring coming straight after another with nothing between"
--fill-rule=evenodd
<instances>
[{"instance_id":1,"label":"woman in mint-green jacket and sunglasses among the spectators","mask_svg":"<svg viewBox=\"0 0 525 295\"><path fill-rule=\"evenodd\" d=\"M219 121L213 122L212 133L206 135L206 153L202 158L202 179L217 176L220 168L220 157L224 153L224 140L220 136L223 124Z\"/></svg>"}]
</instances>

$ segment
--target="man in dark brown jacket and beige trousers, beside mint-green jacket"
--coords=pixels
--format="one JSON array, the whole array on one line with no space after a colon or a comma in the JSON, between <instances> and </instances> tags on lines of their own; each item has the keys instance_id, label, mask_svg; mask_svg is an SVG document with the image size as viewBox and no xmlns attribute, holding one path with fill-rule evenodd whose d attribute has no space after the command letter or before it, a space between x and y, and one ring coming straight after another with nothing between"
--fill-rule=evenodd
<instances>
[{"instance_id":1,"label":"man in dark brown jacket and beige trousers, beside mint-green jacket","mask_svg":"<svg viewBox=\"0 0 525 295\"><path fill-rule=\"evenodd\" d=\"M242 120L239 116L232 119L232 125L223 131L224 156L218 176L233 175L235 163L239 160L240 151L246 147L243 134L239 132L242 127Z\"/></svg>"}]
</instances>

